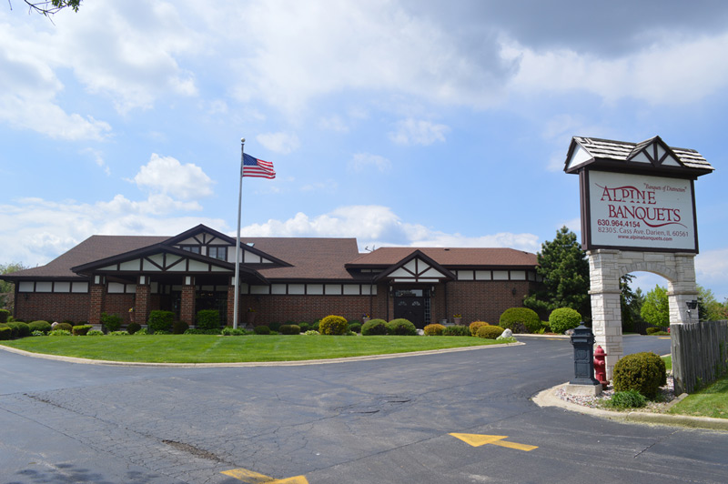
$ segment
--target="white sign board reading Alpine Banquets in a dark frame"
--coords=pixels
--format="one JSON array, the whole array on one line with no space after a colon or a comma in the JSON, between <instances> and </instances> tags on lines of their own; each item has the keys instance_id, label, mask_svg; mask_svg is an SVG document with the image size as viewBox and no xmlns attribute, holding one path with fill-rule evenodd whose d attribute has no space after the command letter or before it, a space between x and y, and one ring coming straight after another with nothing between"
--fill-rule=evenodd
<instances>
[{"instance_id":1,"label":"white sign board reading Alpine Banquets in a dark frame","mask_svg":"<svg viewBox=\"0 0 728 484\"><path fill-rule=\"evenodd\" d=\"M591 169L581 183L586 247L698 251L693 180Z\"/></svg>"}]
</instances>

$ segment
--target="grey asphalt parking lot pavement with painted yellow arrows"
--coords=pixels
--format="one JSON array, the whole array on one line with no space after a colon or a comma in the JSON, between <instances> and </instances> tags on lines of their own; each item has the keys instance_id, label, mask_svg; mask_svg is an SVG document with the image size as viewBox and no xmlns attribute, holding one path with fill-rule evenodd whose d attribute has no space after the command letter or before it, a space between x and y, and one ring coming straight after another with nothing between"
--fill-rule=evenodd
<instances>
[{"instance_id":1,"label":"grey asphalt parking lot pavement with painted yellow arrows","mask_svg":"<svg viewBox=\"0 0 728 484\"><path fill-rule=\"evenodd\" d=\"M643 338L625 338L627 352L665 352ZM222 472L244 469L290 484L728 481L725 434L535 405L571 378L572 348L523 339L269 368L114 368L0 351L0 480L232 484L245 472Z\"/></svg>"}]
</instances>

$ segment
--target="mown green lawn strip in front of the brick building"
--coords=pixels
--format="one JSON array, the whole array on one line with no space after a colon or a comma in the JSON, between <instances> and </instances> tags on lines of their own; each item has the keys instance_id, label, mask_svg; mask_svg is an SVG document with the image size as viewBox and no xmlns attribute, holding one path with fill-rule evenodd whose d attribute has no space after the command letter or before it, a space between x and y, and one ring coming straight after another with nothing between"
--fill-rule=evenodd
<instances>
[{"instance_id":1,"label":"mown green lawn strip in front of the brick building","mask_svg":"<svg viewBox=\"0 0 728 484\"><path fill-rule=\"evenodd\" d=\"M2 344L34 353L110 361L232 363L386 355L492 345L496 341L470 337L146 335L31 337Z\"/></svg>"}]
</instances>

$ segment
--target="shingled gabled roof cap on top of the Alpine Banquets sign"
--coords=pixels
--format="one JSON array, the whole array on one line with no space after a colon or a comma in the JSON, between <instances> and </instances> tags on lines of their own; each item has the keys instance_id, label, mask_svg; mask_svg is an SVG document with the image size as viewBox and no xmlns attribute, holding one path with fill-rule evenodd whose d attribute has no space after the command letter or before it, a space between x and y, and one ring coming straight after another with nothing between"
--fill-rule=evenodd
<instances>
[{"instance_id":1,"label":"shingled gabled roof cap on top of the Alpine Banquets sign","mask_svg":"<svg viewBox=\"0 0 728 484\"><path fill-rule=\"evenodd\" d=\"M714 169L694 149L667 146L660 136L640 143L574 136L566 155L564 171L577 173L585 166L693 178L711 173Z\"/></svg>"}]
</instances>

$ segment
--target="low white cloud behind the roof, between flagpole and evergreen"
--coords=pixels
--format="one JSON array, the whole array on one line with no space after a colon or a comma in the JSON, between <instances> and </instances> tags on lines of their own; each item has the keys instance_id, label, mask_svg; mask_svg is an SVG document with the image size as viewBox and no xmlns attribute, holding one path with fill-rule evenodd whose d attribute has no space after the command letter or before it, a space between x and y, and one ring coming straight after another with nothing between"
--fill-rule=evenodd
<instances>
[{"instance_id":1,"label":"low white cloud behind the roof, between flagpole and evergreen","mask_svg":"<svg viewBox=\"0 0 728 484\"><path fill-rule=\"evenodd\" d=\"M249 237L356 237L359 247L511 247L536 252L533 234L498 234L478 237L448 234L420 224L402 222L389 207L339 207L316 217L298 212L288 220L268 220L242 228Z\"/></svg>"}]
</instances>

